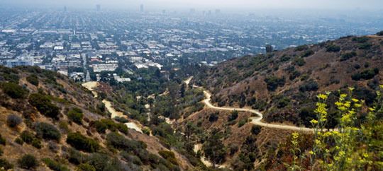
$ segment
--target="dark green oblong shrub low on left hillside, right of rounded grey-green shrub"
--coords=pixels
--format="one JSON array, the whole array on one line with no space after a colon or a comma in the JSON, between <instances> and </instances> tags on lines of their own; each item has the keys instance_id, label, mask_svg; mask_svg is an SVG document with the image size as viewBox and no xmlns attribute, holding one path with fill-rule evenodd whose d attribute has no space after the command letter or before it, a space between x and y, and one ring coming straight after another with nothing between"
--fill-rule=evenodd
<instances>
[{"instance_id":1,"label":"dark green oblong shrub low on left hillside, right of rounded grey-green shrub","mask_svg":"<svg viewBox=\"0 0 383 171\"><path fill-rule=\"evenodd\" d=\"M99 143L94 141L94 139L83 136L78 132L68 134L67 143L79 151L85 151L89 153L98 151L100 148Z\"/></svg>"}]
</instances>

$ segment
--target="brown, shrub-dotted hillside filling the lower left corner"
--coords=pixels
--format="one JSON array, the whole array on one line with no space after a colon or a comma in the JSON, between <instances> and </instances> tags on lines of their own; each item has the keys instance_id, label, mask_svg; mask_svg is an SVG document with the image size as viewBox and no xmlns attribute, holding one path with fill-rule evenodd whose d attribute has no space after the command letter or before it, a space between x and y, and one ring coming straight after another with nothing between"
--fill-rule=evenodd
<instances>
[{"instance_id":1,"label":"brown, shrub-dotted hillside filling the lower left corner","mask_svg":"<svg viewBox=\"0 0 383 171\"><path fill-rule=\"evenodd\" d=\"M0 167L6 170L191 167L157 137L128 129L128 120L112 120L101 98L59 73L0 66L0 104Z\"/></svg>"}]
</instances>

